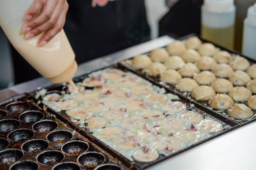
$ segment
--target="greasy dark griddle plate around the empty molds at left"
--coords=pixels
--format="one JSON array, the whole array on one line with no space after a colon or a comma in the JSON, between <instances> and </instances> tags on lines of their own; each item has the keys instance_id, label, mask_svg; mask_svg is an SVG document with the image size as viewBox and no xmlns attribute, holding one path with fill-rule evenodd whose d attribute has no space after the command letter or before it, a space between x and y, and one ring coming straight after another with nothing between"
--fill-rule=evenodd
<instances>
[{"instance_id":1,"label":"greasy dark griddle plate around the empty molds at left","mask_svg":"<svg viewBox=\"0 0 256 170\"><path fill-rule=\"evenodd\" d=\"M17 102L17 101L21 101L21 102L26 102L30 105L30 109L28 110L38 110L40 112L43 113L44 117L36 122L23 122L21 120L19 120L19 115L22 114L23 112L25 111L22 111L20 113L11 113L9 111L7 111L5 108L6 108L6 105L11 103L11 102ZM20 151L23 152L24 156L19 160L19 161L34 161L34 162L37 162L38 164L38 170L51 170L53 166L55 166L56 164L60 163L60 162L66 162L66 161L71 161L71 162L75 162L78 164L78 162L76 161L77 160L77 157L80 155L80 154L67 154L65 152L63 152L61 150L61 146L63 144L66 144L66 142L69 142L69 141L74 141L74 140L79 140L79 141L84 141L88 144L89 148L87 151L85 151L84 153L87 153L87 152L97 152L97 153L102 153L105 157L105 161L104 163L114 163L114 164L117 164L117 165L120 165L122 167L123 170L126 170L127 168L124 167L122 165L122 163L120 161L118 161L116 158L114 158L111 154L105 152L103 149L101 149L100 147L98 147L96 144L94 144L93 142L91 142L90 140L86 139L85 136L79 134L76 129L73 129L71 127L69 127L69 124L66 124L64 123L64 121L61 121L60 119L64 120L62 116L60 115L55 115L51 112L51 110L48 110L47 111L47 108L41 108L38 106L37 104L37 100L35 100L33 97L31 97L29 94L20 94L20 95L17 95L17 96L14 96L14 97L11 97L7 100L3 100L3 101L0 101L0 109L1 110L6 110L7 111L7 115L5 117L2 117L0 120L3 120L3 119L16 119L16 120L19 120L20 122L20 126L11 130L11 131L7 131L7 132L0 132L0 138L4 138L4 139L7 139L9 141L9 145L5 148L5 149L19 149ZM27 111L27 110L26 110ZM54 121L57 123L57 128L53 131L50 131L50 132L37 132L35 130L33 130L32 126L33 124L41 121L41 120L51 120L51 121ZM14 130L17 130L17 129L29 129L29 130L32 130L34 132L34 136L26 141L22 141L22 142L13 142L11 140L8 139L8 134ZM54 132L54 131L57 131L57 130L65 130L65 131L68 131L68 132L71 132L72 133L72 138L71 139L67 139L66 142L64 143L53 143L53 142L50 142L47 140L47 135L51 132ZM38 153L27 153L25 151L22 150L22 144L24 144L25 142L27 141L30 141L30 140L33 140L33 139L43 139L45 141L47 141L47 143L49 144L49 146L47 147L46 150L44 151L40 151ZM54 163L54 164L49 164L49 165L45 165L45 164L41 164L37 161L37 156L39 153L42 153L42 152L45 152L45 151L49 151L49 150L57 150L57 151L60 151L61 153L63 153L65 155L64 159L60 162L57 162L57 163ZM2 150L3 151L3 150ZM81 153L83 154L83 153ZM17 162L17 161L16 161ZM0 166L1 166L1 170L7 170L9 169L9 167L12 165L13 163L0 163ZM78 164L79 165L79 164ZM84 168L82 165L79 165L80 169L86 169ZM92 168L94 169L94 168ZM87 168L87 170L91 170L90 168Z\"/></svg>"}]
</instances>

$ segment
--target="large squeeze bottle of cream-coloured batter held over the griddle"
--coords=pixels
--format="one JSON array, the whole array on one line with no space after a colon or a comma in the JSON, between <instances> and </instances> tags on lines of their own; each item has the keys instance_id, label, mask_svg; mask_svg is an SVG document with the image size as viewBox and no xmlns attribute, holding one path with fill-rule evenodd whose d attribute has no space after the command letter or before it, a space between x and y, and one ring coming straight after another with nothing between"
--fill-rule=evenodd
<instances>
[{"instance_id":1,"label":"large squeeze bottle of cream-coloured batter held over the griddle","mask_svg":"<svg viewBox=\"0 0 256 170\"><path fill-rule=\"evenodd\" d=\"M34 0L0 0L0 26L20 55L42 76L53 83L68 82L76 90L72 81L77 69L75 53L62 29L43 47L38 41L44 34L26 40L21 34L24 15Z\"/></svg>"}]
</instances>

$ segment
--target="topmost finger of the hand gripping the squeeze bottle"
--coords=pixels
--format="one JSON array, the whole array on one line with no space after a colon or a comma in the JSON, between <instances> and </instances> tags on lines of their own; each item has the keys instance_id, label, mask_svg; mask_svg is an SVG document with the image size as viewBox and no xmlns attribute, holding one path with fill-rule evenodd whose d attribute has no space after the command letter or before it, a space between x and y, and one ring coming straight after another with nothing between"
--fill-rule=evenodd
<instances>
[{"instance_id":1,"label":"topmost finger of the hand gripping the squeeze bottle","mask_svg":"<svg viewBox=\"0 0 256 170\"><path fill-rule=\"evenodd\" d=\"M29 21L32 17L34 17L45 5L46 0L35 0L32 6L28 9L25 14L25 20Z\"/></svg>"}]
</instances>

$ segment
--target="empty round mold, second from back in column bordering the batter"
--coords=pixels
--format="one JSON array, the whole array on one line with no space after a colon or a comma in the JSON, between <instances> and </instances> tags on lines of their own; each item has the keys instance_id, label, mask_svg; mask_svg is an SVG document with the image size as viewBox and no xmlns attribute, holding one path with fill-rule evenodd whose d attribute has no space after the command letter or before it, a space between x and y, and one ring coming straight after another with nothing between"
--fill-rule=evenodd
<instances>
[{"instance_id":1,"label":"empty round mold, second from back in column bordering the batter","mask_svg":"<svg viewBox=\"0 0 256 170\"><path fill-rule=\"evenodd\" d=\"M43 117L44 117L44 114L41 111L29 110L21 113L19 115L19 120L29 123L29 122L38 121Z\"/></svg>"}]
</instances>

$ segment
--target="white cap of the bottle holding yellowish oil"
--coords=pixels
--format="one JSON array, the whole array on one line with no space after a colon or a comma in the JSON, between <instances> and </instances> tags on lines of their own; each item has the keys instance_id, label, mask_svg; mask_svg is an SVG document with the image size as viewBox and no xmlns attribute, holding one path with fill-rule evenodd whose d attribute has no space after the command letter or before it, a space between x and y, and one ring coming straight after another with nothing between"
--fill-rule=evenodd
<instances>
[{"instance_id":1,"label":"white cap of the bottle holding yellowish oil","mask_svg":"<svg viewBox=\"0 0 256 170\"><path fill-rule=\"evenodd\" d=\"M204 7L210 12L225 12L234 7L234 0L204 0Z\"/></svg>"}]
</instances>

